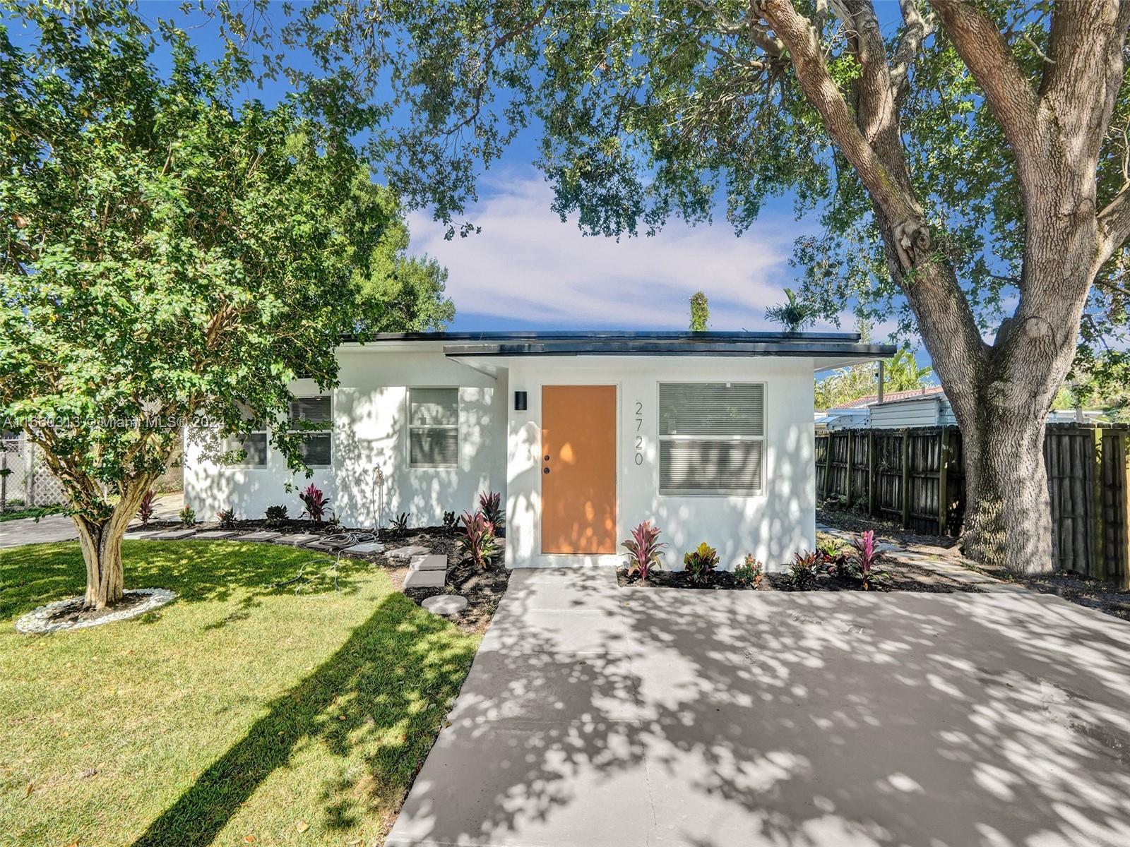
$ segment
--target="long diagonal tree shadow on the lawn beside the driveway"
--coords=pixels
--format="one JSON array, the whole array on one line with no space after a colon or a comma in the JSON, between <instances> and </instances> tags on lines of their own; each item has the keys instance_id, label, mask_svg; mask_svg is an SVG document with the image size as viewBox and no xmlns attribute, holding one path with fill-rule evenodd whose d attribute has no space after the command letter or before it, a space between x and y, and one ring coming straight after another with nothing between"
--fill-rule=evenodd
<instances>
[{"instance_id":1,"label":"long diagonal tree shadow on the lawn beside the driveway","mask_svg":"<svg viewBox=\"0 0 1130 847\"><path fill-rule=\"evenodd\" d=\"M337 653L271 702L134 847L211 844L259 785L311 740L340 757L370 748L358 779L323 792L331 828L356 827L358 803L390 807L431 749L475 655L472 643L450 638L450 626L402 594L386 596Z\"/></svg>"}]
</instances>

